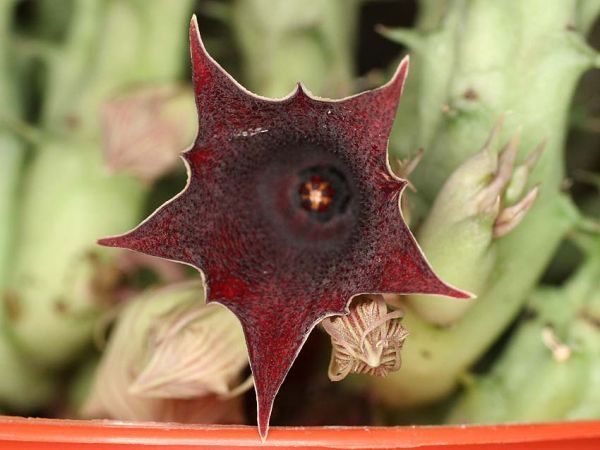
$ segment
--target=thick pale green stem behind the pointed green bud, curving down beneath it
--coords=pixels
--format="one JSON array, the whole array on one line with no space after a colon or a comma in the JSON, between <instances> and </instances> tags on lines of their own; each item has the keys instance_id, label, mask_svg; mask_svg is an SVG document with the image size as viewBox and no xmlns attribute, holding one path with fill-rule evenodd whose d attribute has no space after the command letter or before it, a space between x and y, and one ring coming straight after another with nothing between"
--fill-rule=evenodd
<instances>
[{"instance_id":1,"label":"thick pale green stem behind the pointed green bud, curving down beneath it","mask_svg":"<svg viewBox=\"0 0 600 450\"><path fill-rule=\"evenodd\" d=\"M422 203L432 203L502 114L501 142L522 129L517 164L540 142L547 146L526 188L538 185L539 198L514 231L493 243L489 282L475 292L478 298L462 319L440 328L407 309L410 337L402 370L368 381L383 402L409 407L452 392L521 310L578 220L560 184L570 101L577 81L597 59L572 26L580 6L574 0L422 1L417 29L397 35L414 48L390 152L398 157L425 149L411 177ZM426 207L416 216L425 213ZM453 263L462 264L462 257L457 251Z\"/></svg>"}]
</instances>

